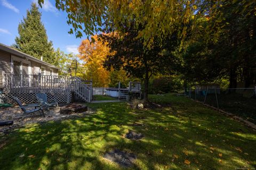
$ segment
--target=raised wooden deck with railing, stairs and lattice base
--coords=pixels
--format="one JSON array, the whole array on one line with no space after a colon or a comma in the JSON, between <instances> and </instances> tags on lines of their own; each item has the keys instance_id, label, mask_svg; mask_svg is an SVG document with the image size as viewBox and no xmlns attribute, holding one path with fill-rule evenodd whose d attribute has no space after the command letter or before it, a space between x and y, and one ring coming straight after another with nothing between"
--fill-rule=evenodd
<instances>
[{"instance_id":1,"label":"raised wooden deck with railing, stairs and lattice base","mask_svg":"<svg viewBox=\"0 0 256 170\"><path fill-rule=\"evenodd\" d=\"M17 96L24 103L34 103L35 95L44 92L59 103L70 103L74 94L85 102L92 100L92 82L58 75L3 74L3 91L9 103Z\"/></svg>"}]
</instances>

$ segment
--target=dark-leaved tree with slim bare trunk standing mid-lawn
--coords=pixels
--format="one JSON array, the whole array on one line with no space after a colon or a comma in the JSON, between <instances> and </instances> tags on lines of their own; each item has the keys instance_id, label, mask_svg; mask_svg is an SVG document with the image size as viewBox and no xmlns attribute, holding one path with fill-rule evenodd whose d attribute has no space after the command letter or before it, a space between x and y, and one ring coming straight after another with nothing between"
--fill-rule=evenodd
<instances>
[{"instance_id":1,"label":"dark-leaved tree with slim bare trunk standing mid-lawn","mask_svg":"<svg viewBox=\"0 0 256 170\"><path fill-rule=\"evenodd\" d=\"M143 80L143 99L147 103L149 79L168 70L173 55L167 53L166 49L169 52L176 49L178 38L175 34L168 36L164 39L164 45L159 45L158 39L155 38L153 46L150 49L145 48L143 39L137 38L140 30L134 24L122 23L123 31L126 32L123 32L124 36L101 35L102 39L107 41L110 52L114 52L107 56L104 66L108 70L124 70L128 75Z\"/></svg>"}]
</instances>

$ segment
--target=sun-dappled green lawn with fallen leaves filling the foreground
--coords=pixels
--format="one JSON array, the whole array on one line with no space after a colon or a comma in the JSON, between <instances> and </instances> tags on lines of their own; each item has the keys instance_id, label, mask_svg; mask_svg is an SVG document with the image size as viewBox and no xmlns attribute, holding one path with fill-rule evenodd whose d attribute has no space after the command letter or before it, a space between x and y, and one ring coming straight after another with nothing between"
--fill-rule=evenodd
<instances>
[{"instance_id":1,"label":"sun-dappled green lawn with fallen leaves filling the foreground","mask_svg":"<svg viewBox=\"0 0 256 170\"><path fill-rule=\"evenodd\" d=\"M167 94L149 98L170 106L139 111L127 103L89 104L96 114L17 130L0 149L0 167L122 169L102 158L113 148L137 155L132 169L256 166L256 132L186 97ZM134 122L144 126L132 126ZM124 138L129 130L141 132L145 138Z\"/></svg>"}]
</instances>

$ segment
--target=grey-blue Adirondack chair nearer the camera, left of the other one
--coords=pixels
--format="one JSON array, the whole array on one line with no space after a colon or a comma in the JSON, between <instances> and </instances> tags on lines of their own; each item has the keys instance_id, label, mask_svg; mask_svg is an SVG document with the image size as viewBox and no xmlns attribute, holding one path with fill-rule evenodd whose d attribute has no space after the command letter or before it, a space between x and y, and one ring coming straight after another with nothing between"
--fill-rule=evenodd
<instances>
[{"instance_id":1,"label":"grey-blue Adirondack chair nearer the camera, left of the other one","mask_svg":"<svg viewBox=\"0 0 256 170\"><path fill-rule=\"evenodd\" d=\"M24 115L29 114L29 113L34 113L34 112L41 112L43 114L43 116L45 117L44 110L43 110L43 108L41 107L40 104L22 105L22 103L20 102L20 100L17 97L13 96L13 99L18 103L18 105L20 106ZM31 107L35 107L35 108L34 109L28 109L28 108L31 108Z\"/></svg>"}]
</instances>

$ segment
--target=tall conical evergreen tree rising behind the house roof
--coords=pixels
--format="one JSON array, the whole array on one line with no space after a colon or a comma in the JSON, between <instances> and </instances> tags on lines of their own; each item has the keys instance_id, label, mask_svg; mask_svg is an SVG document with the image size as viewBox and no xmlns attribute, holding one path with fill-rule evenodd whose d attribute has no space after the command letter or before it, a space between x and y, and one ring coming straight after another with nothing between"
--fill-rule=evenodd
<instances>
[{"instance_id":1,"label":"tall conical evergreen tree rising behind the house roof","mask_svg":"<svg viewBox=\"0 0 256 170\"><path fill-rule=\"evenodd\" d=\"M27 17L18 27L19 37L15 38L15 48L21 52L34 56L38 59L43 57L43 61L55 64L54 49L52 41L48 41L46 30L41 22L41 12L35 3L31 4L27 10Z\"/></svg>"}]
</instances>

